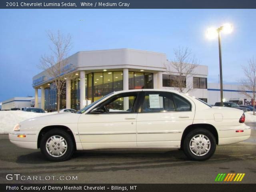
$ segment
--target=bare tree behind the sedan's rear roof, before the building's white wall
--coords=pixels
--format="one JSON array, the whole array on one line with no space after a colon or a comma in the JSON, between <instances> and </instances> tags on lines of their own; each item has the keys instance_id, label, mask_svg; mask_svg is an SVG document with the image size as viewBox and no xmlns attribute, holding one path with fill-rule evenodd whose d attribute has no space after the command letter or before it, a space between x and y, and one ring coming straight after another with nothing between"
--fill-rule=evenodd
<instances>
[{"instance_id":1,"label":"bare tree behind the sedan's rear roof, before the building's white wall","mask_svg":"<svg viewBox=\"0 0 256 192\"><path fill-rule=\"evenodd\" d=\"M166 65L166 71L172 75L171 84L180 92L189 92L193 89L193 82L186 80L193 76L198 66L198 60L189 48L174 49L174 60Z\"/></svg>"}]
</instances>

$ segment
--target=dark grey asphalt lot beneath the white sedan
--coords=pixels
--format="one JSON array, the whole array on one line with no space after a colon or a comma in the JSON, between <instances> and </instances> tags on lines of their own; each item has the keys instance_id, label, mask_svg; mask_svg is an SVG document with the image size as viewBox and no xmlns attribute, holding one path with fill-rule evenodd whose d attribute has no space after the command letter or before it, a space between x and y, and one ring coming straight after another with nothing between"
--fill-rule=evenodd
<instances>
[{"instance_id":1,"label":"dark grey asphalt lot beneath the white sedan","mask_svg":"<svg viewBox=\"0 0 256 192\"><path fill-rule=\"evenodd\" d=\"M49 162L40 150L18 148L0 135L0 183L214 183L218 173L245 173L240 183L255 183L256 123L248 125L248 140L218 146L204 162L189 161L180 150L156 149L78 151L66 162ZM7 180L7 174L25 180Z\"/></svg>"}]
</instances>

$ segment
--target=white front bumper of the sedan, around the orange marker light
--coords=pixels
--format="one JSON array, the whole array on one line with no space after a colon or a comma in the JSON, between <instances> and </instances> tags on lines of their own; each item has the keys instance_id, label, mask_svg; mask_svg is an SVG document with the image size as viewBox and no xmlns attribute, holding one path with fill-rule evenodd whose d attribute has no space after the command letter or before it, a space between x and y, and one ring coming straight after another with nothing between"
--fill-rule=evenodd
<instances>
[{"instance_id":1,"label":"white front bumper of the sedan, around the orange marker light","mask_svg":"<svg viewBox=\"0 0 256 192\"><path fill-rule=\"evenodd\" d=\"M18 137L18 135L25 135L26 137ZM13 131L9 133L10 142L22 148L37 149L37 138L38 135L33 132Z\"/></svg>"}]
</instances>

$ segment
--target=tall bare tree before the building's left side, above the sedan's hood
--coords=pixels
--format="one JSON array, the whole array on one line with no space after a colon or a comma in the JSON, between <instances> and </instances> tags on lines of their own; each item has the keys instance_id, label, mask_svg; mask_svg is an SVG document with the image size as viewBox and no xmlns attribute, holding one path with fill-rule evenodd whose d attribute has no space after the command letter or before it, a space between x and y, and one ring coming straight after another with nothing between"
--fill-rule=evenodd
<instances>
[{"instance_id":1,"label":"tall bare tree before the building's left side, above the sedan's hood","mask_svg":"<svg viewBox=\"0 0 256 192\"><path fill-rule=\"evenodd\" d=\"M60 112L60 95L63 94L66 80L64 79L63 70L67 64L65 60L71 48L71 36L66 36L58 30L57 34L52 31L47 32L48 39L51 41L51 54L41 57L38 68L44 70L48 79L52 80L54 88L57 90L57 109Z\"/></svg>"}]
</instances>

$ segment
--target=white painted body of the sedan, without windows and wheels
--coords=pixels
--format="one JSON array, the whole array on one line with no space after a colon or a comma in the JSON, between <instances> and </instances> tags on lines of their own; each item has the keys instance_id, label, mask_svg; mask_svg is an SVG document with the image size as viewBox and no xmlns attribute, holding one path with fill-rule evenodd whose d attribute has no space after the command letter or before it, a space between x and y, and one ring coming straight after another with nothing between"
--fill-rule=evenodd
<instances>
[{"instance_id":1,"label":"white painted body of the sedan, without windows and wheels","mask_svg":"<svg viewBox=\"0 0 256 192\"><path fill-rule=\"evenodd\" d=\"M100 103L124 92L171 92L191 103L190 111L90 114ZM114 110L113 110L114 111ZM216 130L218 145L241 142L250 137L251 129L240 123L242 110L211 108L198 99L173 90L126 90L107 96L82 114L61 113L20 122L20 131L9 139L19 147L37 149L40 131L46 127L68 128L77 150L102 148L180 148L182 135L190 126L209 126ZM236 130L242 130L236 132ZM26 135L26 137L18 137Z\"/></svg>"}]
</instances>

